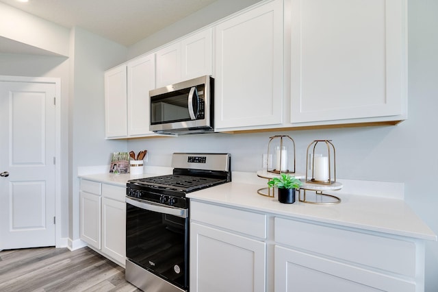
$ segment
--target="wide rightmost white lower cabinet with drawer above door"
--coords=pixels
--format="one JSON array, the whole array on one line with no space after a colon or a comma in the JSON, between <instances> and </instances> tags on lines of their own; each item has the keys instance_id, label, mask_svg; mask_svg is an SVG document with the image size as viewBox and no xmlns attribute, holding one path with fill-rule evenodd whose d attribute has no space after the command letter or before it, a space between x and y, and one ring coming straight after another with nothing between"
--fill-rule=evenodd
<instances>
[{"instance_id":1,"label":"wide rightmost white lower cabinet with drawer above door","mask_svg":"<svg viewBox=\"0 0 438 292\"><path fill-rule=\"evenodd\" d=\"M303 221L274 219L275 291L424 289L422 244Z\"/></svg>"}]
</instances>

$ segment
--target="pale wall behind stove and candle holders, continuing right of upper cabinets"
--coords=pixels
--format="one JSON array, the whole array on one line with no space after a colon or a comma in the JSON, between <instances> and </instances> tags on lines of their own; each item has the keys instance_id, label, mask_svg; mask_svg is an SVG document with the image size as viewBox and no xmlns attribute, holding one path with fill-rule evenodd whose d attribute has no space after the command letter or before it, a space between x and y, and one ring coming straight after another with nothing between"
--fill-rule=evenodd
<instances>
[{"instance_id":1,"label":"pale wall behind stove and candle holders, continuing right of upper cabinets","mask_svg":"<svg viewBox=\"0 0 438 292\"><path fill-rule=\"evenodd\" d=\"M229 152L234 171L255 172L262 168L261 154L267 150L269 136L288 134L296 142L297 170L304 171L307 145L315 139L331 139L336 147L338 178L404 182L406 202L438 234L438 195L433 188L438 178L437 15L436 0L409 1L409 119L399 125L140 139L128 141L128 149L147 149L146 165L166 167L170 167L175 151ZM150 42L157 44L161 34L168 33L160 32ZM147 42L143 40L142 45L148 47ZM426 291L438 291L437 275L438 243L428 242Z\"/></svg>"}]
</instances>

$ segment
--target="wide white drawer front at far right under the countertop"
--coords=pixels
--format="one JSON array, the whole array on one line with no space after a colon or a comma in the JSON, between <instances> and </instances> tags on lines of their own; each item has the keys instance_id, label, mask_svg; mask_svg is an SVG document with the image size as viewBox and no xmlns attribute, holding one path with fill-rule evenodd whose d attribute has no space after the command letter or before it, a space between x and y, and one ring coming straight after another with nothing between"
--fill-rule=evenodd
<instances>
[{"instance_id":1,"label":"wide white drawer front at far right under the countertop","mask_svg":"<svg viewBox=\"0 0 438 292\"><path fill-rule=\"evenodd\" d=\"M276 243L415 277L414 242L275 218Z\"/></svg>"}]
</instances>

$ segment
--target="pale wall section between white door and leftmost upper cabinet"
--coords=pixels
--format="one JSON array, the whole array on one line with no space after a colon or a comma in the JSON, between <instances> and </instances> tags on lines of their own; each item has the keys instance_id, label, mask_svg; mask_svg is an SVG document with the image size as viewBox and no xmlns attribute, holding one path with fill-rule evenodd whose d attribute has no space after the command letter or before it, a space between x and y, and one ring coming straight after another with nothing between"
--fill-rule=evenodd
<instances>
[{"instance_id":1,"label":"pale wall section between white door and leftmost upper cabinet","mask_svg":"<svg viewBox=\"0 0 438 292\"><path fill-rule=\"evenodd\" d=\"M77 167L110 165L113 151L126 151L127 141L105 140L103 72L126 60L127 48L75 27L70 39L70 186L69 239L79 239Z\"/></svg>"}]
</instances>

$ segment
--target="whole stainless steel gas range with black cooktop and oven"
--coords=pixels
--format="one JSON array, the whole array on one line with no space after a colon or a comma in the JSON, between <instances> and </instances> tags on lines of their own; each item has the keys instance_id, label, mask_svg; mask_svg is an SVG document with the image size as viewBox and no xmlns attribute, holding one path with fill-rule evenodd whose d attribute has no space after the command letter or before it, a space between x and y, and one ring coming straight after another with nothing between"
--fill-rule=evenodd
<instances>
[{"instance_id":1,"label":"whole stainless steel gas range with black cooktop and oven","mask_svg":"<svg viewBox=\"0 0 438 292\"><path fill-rule=\"evenodd\" d=\"M126 280L148 292L189 291L189 199L231 182L230 154L175 153L173 173L127 182Z\"/></svg>"}]
</instances>

